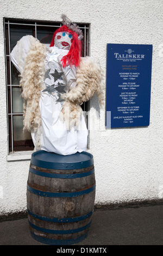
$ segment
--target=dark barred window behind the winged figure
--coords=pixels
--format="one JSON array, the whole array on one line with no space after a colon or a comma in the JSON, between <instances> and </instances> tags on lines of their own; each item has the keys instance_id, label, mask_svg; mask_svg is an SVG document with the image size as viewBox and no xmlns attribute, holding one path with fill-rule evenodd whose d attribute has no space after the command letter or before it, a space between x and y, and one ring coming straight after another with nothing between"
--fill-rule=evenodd
<instances>
[{"instance_id":1,"label":"dark barred window behind the winged figure","mask_svg":"<svg viewBox=\"0 0 163 256\"><path fill-rule=\"evenodd\" d=\"M10 52L16 42L24 35L33 35L42 44L49 46L54 31L60 26L62 26L62 23L59 22L4 19L9 153L34 149L30 133L23 132L23 99L19 86L19 74L11 63ZM82 29L84 35L82 39L82 56L89 56L89 24L78 23L78 26ZM85 103L82 107L83 111L87 112L89 103Z\"/></svg>"}]
</instances>

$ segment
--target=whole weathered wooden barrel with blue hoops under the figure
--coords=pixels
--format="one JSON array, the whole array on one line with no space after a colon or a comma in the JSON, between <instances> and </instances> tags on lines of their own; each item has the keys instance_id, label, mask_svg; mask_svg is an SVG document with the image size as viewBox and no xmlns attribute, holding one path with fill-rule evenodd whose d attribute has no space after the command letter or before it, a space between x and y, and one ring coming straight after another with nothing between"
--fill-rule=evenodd
<instances>
[{"instance_id":1,"label":"whole weathered wooden barrel with blue hoops under the figure","mask_svg":"<svg viewBox=\"0 0 163 256\"><path fill-rule=\"evenodd\" d=\"M72 245L86 238L95 203L93 156L32 154L27 209L32 237L48 245Z\"/></svg>"}]
</instances>

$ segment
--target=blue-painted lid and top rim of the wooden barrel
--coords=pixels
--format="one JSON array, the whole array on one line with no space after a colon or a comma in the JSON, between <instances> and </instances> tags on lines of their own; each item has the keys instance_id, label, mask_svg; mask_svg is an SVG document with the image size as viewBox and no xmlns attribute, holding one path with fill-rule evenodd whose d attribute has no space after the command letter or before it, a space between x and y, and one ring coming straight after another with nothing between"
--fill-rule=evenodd
<instances>
[{"instance_id":1,"label":"blue-painted lid and top rim of the wooden barrel","mask_svg":"<svg viewBox=\"0 0 163 256\"><path fill-rule=\"evenodd\" d=\"M30 162L37 167L47 169L82 169L92 166L93 156L85 151L64 156L39 150L32 154Z\"/></svg>"}]
</instances>

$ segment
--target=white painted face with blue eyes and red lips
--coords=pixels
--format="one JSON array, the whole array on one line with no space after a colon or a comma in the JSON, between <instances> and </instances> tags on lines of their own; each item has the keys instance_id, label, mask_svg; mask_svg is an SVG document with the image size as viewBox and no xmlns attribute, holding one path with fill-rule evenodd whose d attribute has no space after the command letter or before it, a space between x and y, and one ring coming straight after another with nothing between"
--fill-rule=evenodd
<instances>
[{"instance_id":1,"label":"white painted face with blue eyes and red lips","mask_svg":"<svg viewBox=\"0 0 163 256\"><path fill-rule=\"evenodd\" d=\"M54 45L64 50L70 50L72 45L72 34L68 32L59 32L55 35Z\"/></svg>"}]
</instances>

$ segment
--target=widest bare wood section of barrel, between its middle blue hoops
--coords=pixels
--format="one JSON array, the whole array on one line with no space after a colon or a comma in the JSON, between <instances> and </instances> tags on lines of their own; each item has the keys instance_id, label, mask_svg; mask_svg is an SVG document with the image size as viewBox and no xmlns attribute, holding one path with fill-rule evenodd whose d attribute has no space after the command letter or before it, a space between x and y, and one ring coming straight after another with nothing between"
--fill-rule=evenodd
<instances>
[{"instance_id":1,"label":"widest bare wood section of barrel, between its middle blue hoops","mask_svg":"<svg viewBox=\"0 0 163 256\"><path fill-rule=\"evenodd\" d=\"M92 211L95 202L95 190L74 198L40 197L27 190L27 198L27 208L37 215L47 216L48 212L48 216L51 218L77 217ZM71 204L68 205L68 202Z\"/></svg>"}]
</instances>

